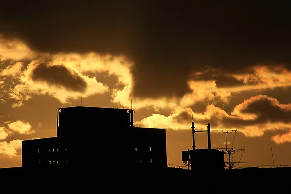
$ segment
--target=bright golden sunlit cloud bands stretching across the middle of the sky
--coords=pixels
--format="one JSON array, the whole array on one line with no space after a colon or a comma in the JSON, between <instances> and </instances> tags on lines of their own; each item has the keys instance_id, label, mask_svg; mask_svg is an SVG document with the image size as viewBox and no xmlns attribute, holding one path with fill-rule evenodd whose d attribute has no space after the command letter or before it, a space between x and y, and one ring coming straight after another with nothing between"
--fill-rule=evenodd
<instances>
[{"instance_id":1,"label":"bright golden sunlit cloud bands stretching across the middle of the sky","mask_svg":"<svg viewBox=\"0 0 291 194\"><path fill-rule=\"evenodd\" d=\"M82 97L89 97L110 92L112 102L124 107L130 107L131 99L133 99L133 108L136 110L147 107L154 108L157 111L164 108L172 110L172 114L169 116L153 114L136 122L136 125L145 127L171 128L176 130L190 129L189 123L191 122L190 116L192 112L190 106L193 106L197 102L215 99L228 103L229 98L234 93L251 90L257 90L259 92L265 89L291 86L291 72L283 66L270 68L264 65L257 65L252 68L253 73L251 74L226 75L243 81L245 85L219 88L216 80L197 81L189 79L188 86L191 92L186 93L182 98L161 97L160 99L139 99L131 96L133 76L130 70L134 62L124 56L99 55L94 52L87 54L36 53L17 40L5 41L4 39L0 39L0 54L0 60L2 61L8 59L13 60L13 63L5 67L0 74L0 89L4 93L7 93L10 98L16 100L16 103L12 105L13 107L22 106L26 100L32 98L32 94L47 94L57 98L61 103L70 103L71 99L78 99L81 95ZM23 67L22 59L30 59L30 63ZM45 79L41 81L33 80L32 74L34 70L42 63L46 63L49 67L62 65L68 72L76 74L80 79L85 81L87 85L85 91L68 90L60 86L60 84L50 84ZM115 75L118 79L118 87L109 91L106 83L99 82L96 77L87 76L88 73ZM11 84L11 81L8 82L9 79L15 79L12 81L13 84ZM213 122L215 125L214 127L212 125L212 129L227 130L238 128L238 131L250 137L261 136L267 130L291 129L290 122L281 121L280 119L259 122L259 114L262 113L244 111L251 104L259 100L272 102L271 104L276 110L284 109L285 112L291 110L289 104L279 104L276 99L265 96L255 96L245 100L237 105L230 114L212 104L207 106L203 113L193 113L196 129L205 129L207 122ZM177 117L184 112L188 114L190 119L177 122ZM227 122L233 122L233 124L230 125ZM239 127L236 127L236 125ZM23 128L23 130L25 129L28 128ZM2 136L4 137L5 134L3 133ZM287 133L285 135L275 136L273 140L280 143L290 141L291 138L289 137L290 134Z\"/></svg>"}]
</instances>

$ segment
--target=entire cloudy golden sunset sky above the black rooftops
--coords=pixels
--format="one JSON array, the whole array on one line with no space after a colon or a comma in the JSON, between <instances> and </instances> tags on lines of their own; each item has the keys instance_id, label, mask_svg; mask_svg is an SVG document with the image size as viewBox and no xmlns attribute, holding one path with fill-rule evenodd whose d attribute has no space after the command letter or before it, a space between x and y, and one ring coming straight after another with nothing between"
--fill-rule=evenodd
<instances>
[{"instance_id":1,"label":"entire cloudy golden sunset sky above the black rooftops","mask_svg":"<svg viewBox=\"0 0 291 194\"><path fill-rule=\"evenodd\" d=\"M183 165L191 149L191 114L196 130L237 129L227 142L246 146L233 155L240 167L273 165L270 143L275 165L291 164L288 5L9 2L0 7L0 167L21 166L21 140L56 136L56 109L81 97L110 108L132 100L135 126L166 128L168 164ZM211 139L226 146L222 131ZM207 148L206 134L196 146Z\"/></svg>"}]
</instances>

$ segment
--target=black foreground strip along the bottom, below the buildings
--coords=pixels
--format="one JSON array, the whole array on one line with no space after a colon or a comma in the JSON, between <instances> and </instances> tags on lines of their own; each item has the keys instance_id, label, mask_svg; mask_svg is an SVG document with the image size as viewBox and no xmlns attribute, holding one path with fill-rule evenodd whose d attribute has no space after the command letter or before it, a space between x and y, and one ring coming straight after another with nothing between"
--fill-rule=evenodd
<instances>
[{"instance_id":1,"label":"black foreground strip along the bottom, below the buildings","mask_svg":"<svg viewBox=\"0 0 291 194\"><path fill-rule=\"evenodd\" d=\"M13 183L23 192L37 189L41 193L48 190L57 193L286 193L290 191L290 176L291 168L244 168L217 172L170 167L159 170L86 167L0 169L2 186Z\"/></svg>"}]
</instances>

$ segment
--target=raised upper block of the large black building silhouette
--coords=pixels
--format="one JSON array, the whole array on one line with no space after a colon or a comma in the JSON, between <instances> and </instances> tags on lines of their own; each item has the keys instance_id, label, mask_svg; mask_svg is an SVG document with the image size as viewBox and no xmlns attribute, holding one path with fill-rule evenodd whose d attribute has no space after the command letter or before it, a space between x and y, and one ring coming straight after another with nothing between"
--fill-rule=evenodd
<instances>
[{"instance_id":1,"label":"raised upper block of the large black building silhouette","mask_svg":"<svg viewBox=\"0 0 291 194\"><path fill-rule=\"evenodd\" d=\"M86 134L96 134L100 130L133 127L133 110L100 107L67 107L57 109L57 136L72 138Z\"/></svg>"}]
</instances>

